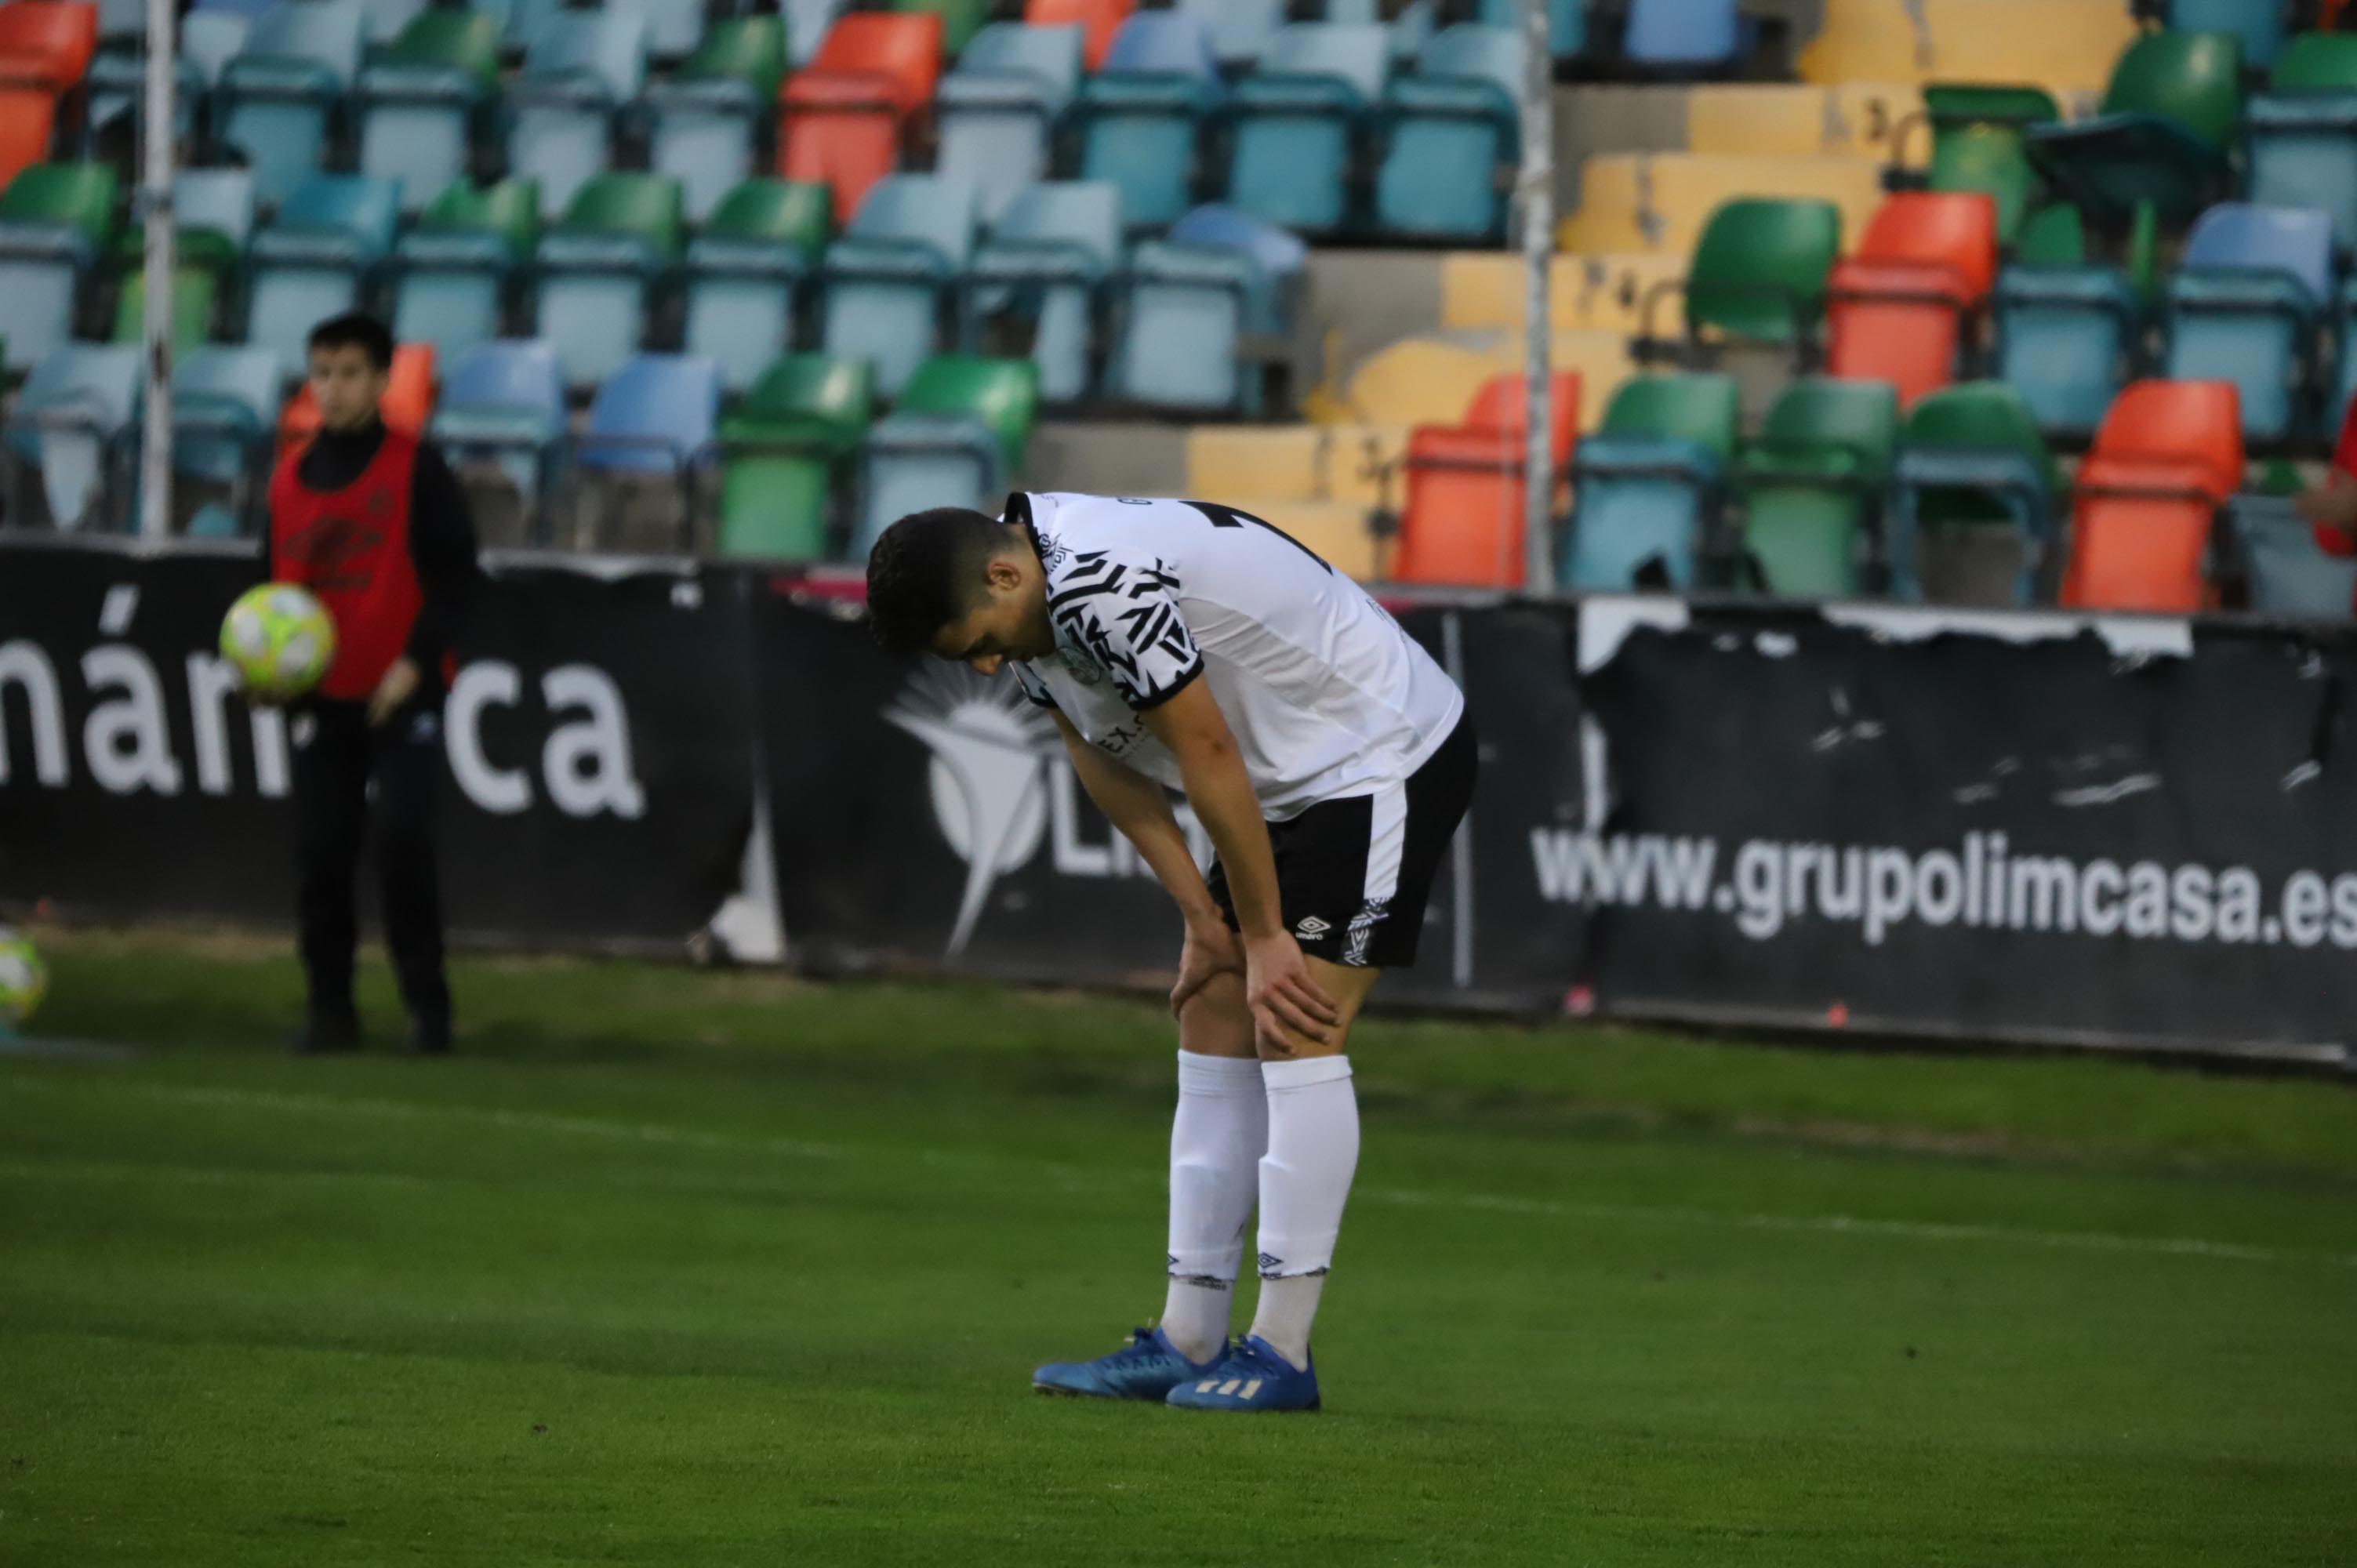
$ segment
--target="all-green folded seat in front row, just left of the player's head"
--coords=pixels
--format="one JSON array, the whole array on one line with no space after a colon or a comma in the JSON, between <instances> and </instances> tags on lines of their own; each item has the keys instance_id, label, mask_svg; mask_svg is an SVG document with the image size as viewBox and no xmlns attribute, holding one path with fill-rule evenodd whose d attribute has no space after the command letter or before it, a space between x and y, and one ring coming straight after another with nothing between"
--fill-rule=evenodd
<instances>
[{"instance_id":1,"label":"all-green folded seat in front row, just left of the player's head","mask_svg":"<svg viewBox=\"0 0 2357 1568\"><path fill-rule=\"evenodd\" d=\"M787 561L832 554L827 493L867 434L872 408L867 361L787 354L764 370L721 420L714 549Z\"/></svg>"}]
</instances>

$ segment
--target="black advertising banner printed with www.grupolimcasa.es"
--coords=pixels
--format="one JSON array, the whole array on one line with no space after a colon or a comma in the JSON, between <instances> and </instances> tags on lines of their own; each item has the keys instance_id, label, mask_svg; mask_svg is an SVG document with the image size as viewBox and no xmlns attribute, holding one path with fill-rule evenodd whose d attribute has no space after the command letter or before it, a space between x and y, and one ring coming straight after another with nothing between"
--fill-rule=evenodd
<instances>
[{"instance_id":1,"label":"black advertising banner printed with www.grupolimcasa.es","mask_svg":"<svg viewBox=\"0 0 2357 1568\"><path fill-rule=\"evenodd\" d=\"M1607 1012L2296 1052L2350 1037L2345 639L1582 606ZM1596 809L1600 806L1600 811Z\"/></svg>"}]
</instances>

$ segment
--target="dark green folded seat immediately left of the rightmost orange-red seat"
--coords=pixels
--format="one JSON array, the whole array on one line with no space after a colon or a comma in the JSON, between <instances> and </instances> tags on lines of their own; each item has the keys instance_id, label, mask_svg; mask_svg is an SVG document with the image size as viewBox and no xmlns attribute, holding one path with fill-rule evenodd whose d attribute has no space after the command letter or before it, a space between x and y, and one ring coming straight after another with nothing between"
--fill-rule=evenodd
<instances>
[{"instance_id":1,"label":"dark green folded seat immediately left of the rightmost orange-red seat","mask_svg":"<svg viewBox=\"0 0 2357 1568\"><path fill-rule=\"evenodd\" d=\"M1933 391L1907 415L1883 549L1890 592L1930 604L2036 604L2055 538L2055 465L2006 382Z\"/></svg>"}]
</instances>

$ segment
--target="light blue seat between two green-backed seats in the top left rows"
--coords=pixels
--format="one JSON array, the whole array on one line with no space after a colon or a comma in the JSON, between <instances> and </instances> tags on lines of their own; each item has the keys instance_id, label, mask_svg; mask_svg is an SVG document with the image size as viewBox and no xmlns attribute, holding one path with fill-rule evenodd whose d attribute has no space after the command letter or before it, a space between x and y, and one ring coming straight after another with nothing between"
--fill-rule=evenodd
<instances>
[{"instance_id":1,"label":"light blue seat between two green-backed seats in the top left rows","mask_svg":"<svg viewBox=\"0 0 2357 1568\"><path fill-rule=\"evenodd\" d=\"M507 172L540 186L540 217L613 158L615 120L646 83L646 24L603 12L556 12L533 33L507 90Z\"/></svg>"}]
</instances>

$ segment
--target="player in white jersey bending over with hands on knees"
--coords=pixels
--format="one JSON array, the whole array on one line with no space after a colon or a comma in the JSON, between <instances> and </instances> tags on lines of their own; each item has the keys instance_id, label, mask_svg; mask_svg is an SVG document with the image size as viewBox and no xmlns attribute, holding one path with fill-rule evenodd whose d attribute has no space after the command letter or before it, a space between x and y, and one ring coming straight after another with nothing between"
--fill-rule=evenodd
<instances>
[{"instance_id":1,"label":"player in white jersey bending over with hands on knees","mask_svg":"<svg viewBox=\"0 0 2357 1568\"><path fill-rule=\"evenodd\" d=\"M1315 1410L1310 1320L1358 1167L1351 1023L1414 962L1473 797L1464 696L1365 589L1211 502L903 516L867 561L867 608L886 648L1011 667L1186 917L1162 1323L1032 1386ZM1211 835L1209 879L1167 790ZM1261 1299L1230 1344L1254 1200Z\"/></svg>"}]
</instances>

